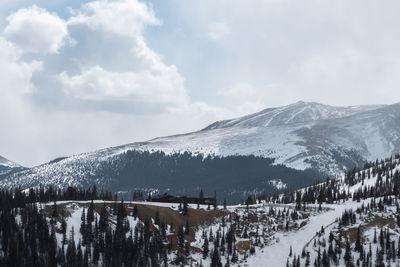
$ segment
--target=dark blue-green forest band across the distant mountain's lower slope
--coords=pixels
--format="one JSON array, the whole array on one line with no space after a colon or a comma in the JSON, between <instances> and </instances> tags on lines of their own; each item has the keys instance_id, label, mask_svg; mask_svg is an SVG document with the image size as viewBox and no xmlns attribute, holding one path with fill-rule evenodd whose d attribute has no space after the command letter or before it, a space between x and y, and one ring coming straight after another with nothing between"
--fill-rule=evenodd
<instances>
[{"instance_id":1,"label":"dark blue-green forest band across the distant mountain's lower slope","mask_svg":"<svg viewBox=\"0 0 400 267\"><path fill-rule=\"evenodd\" d=\"M228 202L244 200L248 195L274 194L310 185L322 175L315 170L295 170L273 165L274 160L258 156L207 156L191 153L128 151L118 159L104 162L97 176L111 177L111 191L168 193L174 196L198 196L217 192ZM272 181L280 181L277 188Z\"/></svg>"}]
</instances>

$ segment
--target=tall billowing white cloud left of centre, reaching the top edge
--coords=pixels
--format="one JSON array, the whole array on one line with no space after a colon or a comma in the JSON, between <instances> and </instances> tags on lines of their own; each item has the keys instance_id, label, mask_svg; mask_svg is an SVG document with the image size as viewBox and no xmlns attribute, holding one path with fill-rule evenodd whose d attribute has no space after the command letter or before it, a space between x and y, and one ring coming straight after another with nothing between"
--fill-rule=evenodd
<instances>
[{"instance_id":1,"label":"tall billowing white cloud left of centre, reaching the top edge","mask_svg":"<svg viewBox=\"0 0 400 267\"><path fill-rule=\"evenodd\" d=\"M146 4L136 0L94 1L72 11L72 14L68 27L74 29L71 32L77 39L76 50L82 49L82 36L96 36L100 32L102 40L107 41L98 44L95 39L86 39L83 49L97 47L98 54L94 60L86 61L87 55L80 54L75 59L81 62L78 73L62 72L58 75L61 88L68 96L104 102L105 105L96 105L98 110L110 110L110 105L106 105L110 101L131 103L135 108L130 110L139 112L154 112L155 107L166 110L187 105L187 90L177 68L166 65L162 57L146 44L144 27L160 25ZM108 53L109 64L101 60ZM114 111L121 111L118 105L114 107Z\"/></svg>"}]
</instances>

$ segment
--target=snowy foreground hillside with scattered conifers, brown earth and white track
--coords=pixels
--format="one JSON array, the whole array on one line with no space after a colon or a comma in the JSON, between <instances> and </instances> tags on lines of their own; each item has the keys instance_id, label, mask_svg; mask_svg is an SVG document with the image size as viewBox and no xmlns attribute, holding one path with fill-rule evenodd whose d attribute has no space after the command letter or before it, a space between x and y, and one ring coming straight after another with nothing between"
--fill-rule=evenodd
<instances>
[{"instance_id":1,"label":"snowy foreground hillside with scattered conifers, brown earth and white track","mask_svg":"<svg viewBox=\"0 0 400 267\"><path fill-rule=\"evenodd\" d=\"M249 196L235 206L43 203L50 199L45 192L8 193L0 195L5 203L29 205L8 213L15 218L14 227L0 224L0 229L3 235L15 229L11 237L20 236L20 246L25 235L27 240L50 240L49 249L39 251L43 262L63 263L66 258L67 263L86 262L84 266L399 266L399 170L396 155L338 179L263 200ZM71 192L74 199L92 196ZM43 202L31 205L29 198L35 195ZM48 196L70 199L62 193ZM27 218L42 235L32 234ZM0 244L6 260L12 259L7 249L12 242ZM51 252L57 257L49 257Z\"/></svg>"}]
</instances>

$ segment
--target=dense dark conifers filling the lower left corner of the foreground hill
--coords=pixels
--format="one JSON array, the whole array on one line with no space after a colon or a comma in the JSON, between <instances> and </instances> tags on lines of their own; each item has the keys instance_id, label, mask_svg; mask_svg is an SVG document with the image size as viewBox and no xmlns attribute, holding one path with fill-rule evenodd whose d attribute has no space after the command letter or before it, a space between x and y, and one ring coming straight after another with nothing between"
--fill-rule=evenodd
<instances>
[{"instance_id":1,"label":"dense dark conifers filling the lower left corner of the foreground hill","mask_svg":"<svg viewBox=\"0 0 400 267\"><path fill-rule=\"evenodd\" d=\"M32 203L73 199L71 194L86 200L98 197L95 191L39 189L32 191L34 198L18 190L0 191L0 266L167 266L171 250L165 225L155 230L149 219L137 219L131 230L123 201L104 204L98 215L92 201L82 212L80 228L70 232L63 209L47 205L52 212L46 216L39 209L43 204ZM78 232L82 238L76 242Z\"/></svg>"}]
</instances>

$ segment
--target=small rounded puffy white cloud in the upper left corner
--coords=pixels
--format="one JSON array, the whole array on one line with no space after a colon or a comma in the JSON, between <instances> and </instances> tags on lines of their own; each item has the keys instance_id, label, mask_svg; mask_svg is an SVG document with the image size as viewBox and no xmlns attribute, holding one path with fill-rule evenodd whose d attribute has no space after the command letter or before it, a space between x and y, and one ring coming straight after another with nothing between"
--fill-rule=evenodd
<instances>
[{"instance_id":1,"label":"small rounded puffy white cloud in the upper left corner","mask_svg":"<svg viewBox=\"0 0 400 267\"><path fill-rule=\"evenodd\" d=\"M24 52L58 53L69 40L66 22L35 5L18 10L7 21L4 35Z\"/></svg>"}]
</instances>

